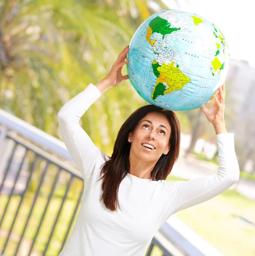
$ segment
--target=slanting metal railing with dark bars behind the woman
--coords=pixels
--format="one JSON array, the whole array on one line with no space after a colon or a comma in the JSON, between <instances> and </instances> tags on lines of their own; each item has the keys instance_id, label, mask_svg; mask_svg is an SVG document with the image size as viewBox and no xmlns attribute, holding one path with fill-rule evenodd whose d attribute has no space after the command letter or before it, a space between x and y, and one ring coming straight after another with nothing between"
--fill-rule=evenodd
<instances>
[{"instance_id":1,"label":"slanting metal railing with dark bars behind the woman","mask_svg":"<svg viewBox=\"0 0 255 256\"><path fill-rule=\"evenodd\" d=\"M83 195L73 166L64 142L0 109L0 255L59 254ZM163 256L221 255L174 215L146 256L155 247Z\"/></svg>"}]
</instances>

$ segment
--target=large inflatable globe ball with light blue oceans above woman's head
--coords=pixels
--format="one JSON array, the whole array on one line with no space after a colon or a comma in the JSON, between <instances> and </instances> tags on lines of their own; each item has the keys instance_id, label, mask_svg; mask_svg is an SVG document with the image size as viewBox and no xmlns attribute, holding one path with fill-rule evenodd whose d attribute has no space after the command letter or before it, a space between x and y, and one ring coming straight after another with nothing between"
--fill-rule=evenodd
<instances>
[{"instance_id":1,"label":"large inflatable globe ball with light blue oceans above woman's head","mask_svg":"<svg viewBox=\"0 0 255 256\"><path fill-rule=\"evenodd\" d=\"M229 49L220 29L194 13L163 10L134 33L127 54L131 84L171 111L200 108L226 79Z\"/></svg>"}]
</instances>

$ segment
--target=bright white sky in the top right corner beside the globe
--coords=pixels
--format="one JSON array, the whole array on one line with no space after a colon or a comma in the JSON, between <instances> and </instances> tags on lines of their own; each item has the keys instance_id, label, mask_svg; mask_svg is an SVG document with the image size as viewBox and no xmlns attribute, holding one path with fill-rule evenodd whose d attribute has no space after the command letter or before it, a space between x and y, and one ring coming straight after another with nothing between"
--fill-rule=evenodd
<instances>
[{"instance_id":1,"label":"bright white sky in the top right corner beside the globe","mask_svg":"<svg viewBox=\"0 0 255 256\"><path fill-rule=\"evenodd\" d=\"M229 46L230 58L246 60L255 68L255 12L252 0L177 0L180 9L214 23ZM162 0L177 9L174 0ZM187 4L188 2L188 4Z\"/></svg>"}]
</instances>

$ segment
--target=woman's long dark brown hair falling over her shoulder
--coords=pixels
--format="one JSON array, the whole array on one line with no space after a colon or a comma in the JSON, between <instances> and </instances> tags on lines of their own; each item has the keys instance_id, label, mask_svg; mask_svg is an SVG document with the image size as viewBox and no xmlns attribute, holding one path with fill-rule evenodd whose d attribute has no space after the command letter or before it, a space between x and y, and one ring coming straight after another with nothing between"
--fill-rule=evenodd
<instances>
[{"instance_id":1,"label":"woman's long dark brown hair falling over her shoulder","mask_svg":"<svg viewBox=\"0 0 255 256\"><path fill-rule=\"evenodd\" d=\"M127 175L130 168L129 153L131 143L127 141L128 134L136 129L139 121L148 113L162 113L168 119L171 126L171 135L169 138L170 150L168 154L162 154L154 169L151 171L152 180L165 180L171 172L174 163L177 161L180 152L180 122L173 111L159 108L155 105L145 105L134 111L121 126L116 141L114 143L113 154L109 160L106 159L102 165L99 180L103 179L100 201L104 201L107 209L117 211L119 207L118 191L121 181Z\"/></svg>"}]
</instances>

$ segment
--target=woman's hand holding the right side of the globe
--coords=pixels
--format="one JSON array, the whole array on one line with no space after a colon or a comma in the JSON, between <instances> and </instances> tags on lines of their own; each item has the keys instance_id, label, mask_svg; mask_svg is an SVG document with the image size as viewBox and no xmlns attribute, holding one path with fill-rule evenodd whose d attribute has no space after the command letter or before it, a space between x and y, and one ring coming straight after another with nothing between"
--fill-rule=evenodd
<instances>
[{"instance_id":1,"label":"woman's hand holding the right side of the globe","mask_svg":"<svg viewBox=\"0 0 255 256\"><path fill-rule=\"evenodd\" d=\"M225 82L219 87L220 93L214 97L214 104L211 109L207 109L202 106L200 109L205 113L208 121L212 123L213 126L224 124L224 110L225 110Z\"/></svg>"}]
</instances>

